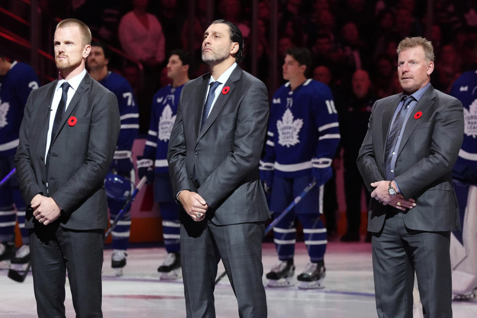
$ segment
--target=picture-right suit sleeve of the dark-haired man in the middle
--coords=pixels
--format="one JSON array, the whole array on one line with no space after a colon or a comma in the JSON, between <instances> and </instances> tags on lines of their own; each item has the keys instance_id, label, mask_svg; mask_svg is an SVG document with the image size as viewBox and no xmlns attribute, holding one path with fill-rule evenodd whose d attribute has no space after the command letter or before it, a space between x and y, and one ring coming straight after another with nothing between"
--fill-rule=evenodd
<instances>
[{"instance_id":1,"label":"picture-right suit sleeve of the dark-haired man in the middle","mask_svg":"<svg viewBox=\"0 0 477 318\"><path fill-rule=\"evenodd\" d=\"M217 206L230 195L254 169L258 172L268 115L267 88L263 82L256 81L238 105L232 151L197 191L210 207Z\"/></svg>"}]
</instances>

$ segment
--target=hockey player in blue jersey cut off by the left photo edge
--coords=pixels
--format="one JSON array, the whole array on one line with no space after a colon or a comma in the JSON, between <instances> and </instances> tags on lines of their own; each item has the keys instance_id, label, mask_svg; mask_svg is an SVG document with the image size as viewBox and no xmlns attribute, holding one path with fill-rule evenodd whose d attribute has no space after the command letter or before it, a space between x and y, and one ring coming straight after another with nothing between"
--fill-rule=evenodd
<instances>
[{"instance_id":1,"label":"hockey player in blue jersey cut off by the left photo edge","mask_svg":"<svg viewBox=\"0 0 477 318\"><path fill-rule=\"evenodd\" d=\"M23 109L30 92L38 88L38 77L27 64L10 63L0 54L0 178L14 167L13 156L18 146L18 132ZM16 209L16 212L15 212ZM26 206L21 198L15 175L0 187L0 267L27 263L30 259L28 230L25 227ZM22 245L15 252L15 222L18 220Z\"/></svg>"}]
</instances>

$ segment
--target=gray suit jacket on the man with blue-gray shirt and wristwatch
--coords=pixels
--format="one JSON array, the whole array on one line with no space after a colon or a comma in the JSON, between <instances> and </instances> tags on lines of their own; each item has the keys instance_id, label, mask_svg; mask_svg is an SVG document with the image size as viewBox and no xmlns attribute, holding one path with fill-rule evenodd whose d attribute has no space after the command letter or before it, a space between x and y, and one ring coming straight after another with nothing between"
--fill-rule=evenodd
<instances>
[{"instance_id":1,"label":"gray suit jacket on the man with blue-gray shirt and wristwatch","mask_svg":"<svg viewBox=\"0 0 477 318\"><path fill-rule=\"evenodd\" d=\"M377 100L373 106L357 160L369 191L374 189L370 185L372 182L385 180L386 140L401 96ZM422 112L422 116L416 119L414 114L417 112ZM416 200L416 207L405 213L407 228L420 231L460 228L451 171L463 136L462 103L431 85L410 114L397 151L396 182L404 198ZM368 231L381 231L388 209L388 205L371 199Z\"/></svg>"}]
</instances>

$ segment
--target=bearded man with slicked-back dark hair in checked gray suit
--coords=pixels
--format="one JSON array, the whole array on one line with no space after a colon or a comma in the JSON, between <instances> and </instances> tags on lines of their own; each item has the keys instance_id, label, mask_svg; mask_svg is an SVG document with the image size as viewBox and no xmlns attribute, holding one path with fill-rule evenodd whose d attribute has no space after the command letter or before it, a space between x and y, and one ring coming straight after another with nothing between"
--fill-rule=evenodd
<instances>
[{"instance_id":1,"label":"bearded man with slicked-back dark hair in checked gray suit","mask_svg":"<svg viewBox=\"0 0 477 318\"><path fill-rule=\"evenodd\" d=\"M266 317L261 242L270 217L258 175L268 123L263 82L242 71L243 37L212 22L202 60L210 73L182 88L167 160L182 205L180 246L187 317L215 317L214 280L224 263L239 317Z\"/></svg>"}]
</instances>

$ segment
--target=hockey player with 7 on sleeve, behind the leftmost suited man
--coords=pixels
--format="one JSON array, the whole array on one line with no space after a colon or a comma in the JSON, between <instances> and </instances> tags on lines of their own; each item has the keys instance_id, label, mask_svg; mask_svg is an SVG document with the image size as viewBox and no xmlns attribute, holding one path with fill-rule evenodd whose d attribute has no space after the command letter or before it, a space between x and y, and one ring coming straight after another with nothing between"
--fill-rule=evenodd
<instances>
[{"instance_id":1,"label":"hockey player with 7 on sleeve, behind the leftmost suited man","mask_svg":"<svg viewBox=\"0 0 477 318\"><path fill-rule=\"evenodd\" d=\"M111 191L108 193L107 191L110 220L114 220L126 203L129 194L132 193L135 182L131 149L134 140L138 136L139 113L133 89L129 82L119 74L108 71L109 58L110 51L108 47L104 43L93 42L86 65L91 77L116 95L119 114L121 115L121 131L110 172L120 175L125 178L126 182L130 182L131 190L123 191L119 195L113 194ZM111 232L113 239L111 267L117 270L116 275L118 276L122 274L122 268L126 265L126 249L129 244L130 229L131 213L130 209L128 209L123 213L116 227Z\"/></svg>"}]
</instances>

